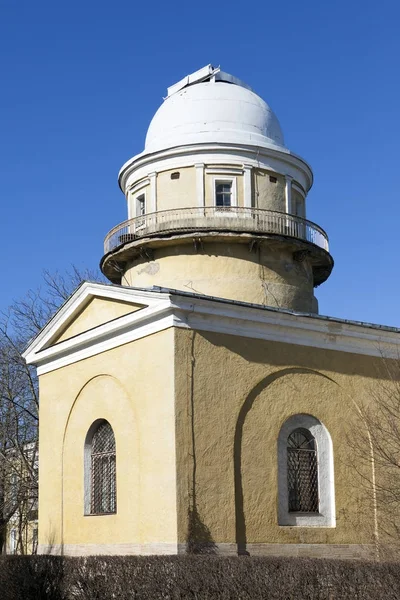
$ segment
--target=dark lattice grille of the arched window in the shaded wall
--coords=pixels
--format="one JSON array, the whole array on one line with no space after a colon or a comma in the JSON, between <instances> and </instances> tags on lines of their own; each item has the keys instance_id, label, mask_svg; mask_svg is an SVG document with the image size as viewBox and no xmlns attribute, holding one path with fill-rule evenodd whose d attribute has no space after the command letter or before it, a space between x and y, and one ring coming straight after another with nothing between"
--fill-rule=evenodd
<instances>
[{"instance_id":1,"label":"dark lattice grille of the arched window in the shaded wall","mask_svg":"<svg viewBox=\"0 0 400 600\"><path fill-rule=\"evenodd\" d=\"M289 512L318 512L318 461L315 439L306 429L288 437Z\"/></svg>"}]
</instances>

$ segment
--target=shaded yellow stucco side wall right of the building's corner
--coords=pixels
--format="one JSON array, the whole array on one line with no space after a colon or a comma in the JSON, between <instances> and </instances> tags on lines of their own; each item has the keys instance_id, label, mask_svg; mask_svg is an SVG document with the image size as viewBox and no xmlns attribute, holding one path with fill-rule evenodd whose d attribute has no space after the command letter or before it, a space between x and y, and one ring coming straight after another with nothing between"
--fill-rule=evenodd
<instances>
[{"instance_id":1,"label":"shaded yellow stucco side wall right of the building's corner","mask_svg":"<svg viewBox=\"0 0 400 600\"><path fill-rule=\"evenodd\" d=\"M374 511L346 436L363 426L357 406L379 359L184 330L175 345L179 542L195 490L203 530L219 544L373 544ZM332 438L336 527L277 522L277 438L299 413Z\"/></svg>"}]
</instances>

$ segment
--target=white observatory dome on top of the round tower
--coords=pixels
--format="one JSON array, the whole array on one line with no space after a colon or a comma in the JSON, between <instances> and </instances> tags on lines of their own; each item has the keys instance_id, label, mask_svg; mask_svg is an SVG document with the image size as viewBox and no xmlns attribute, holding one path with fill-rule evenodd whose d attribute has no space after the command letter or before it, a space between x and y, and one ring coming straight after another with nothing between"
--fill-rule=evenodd
<instances>
[{"instance_id":1,"label":"white observatory dome on top of the round tower","mask_svg":"<svg viewBox=\"0 0 400 600\"><path fill-rule=\"evenodd\" d=\"M279 121L245 83L207 65L168 88L145 153L199 143L284 148Z\"/></svg>"}]
</instances>

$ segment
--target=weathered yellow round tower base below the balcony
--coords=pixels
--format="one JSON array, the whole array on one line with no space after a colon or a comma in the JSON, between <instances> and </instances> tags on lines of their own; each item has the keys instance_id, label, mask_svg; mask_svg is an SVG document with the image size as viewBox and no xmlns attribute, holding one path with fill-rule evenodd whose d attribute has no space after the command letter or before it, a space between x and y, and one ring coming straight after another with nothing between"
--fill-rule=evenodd
<instances>
[{"instance_id":1,"label":"weathered yellow round tower base below the balcony","mask_svg":"<svg viewBox=\"0 0 400 600\"><path fill-rule=\"evenodd\" d=\"M197 250L190 239L185 246L154 248L151 262L128 264L124 282L317 312L311 266L293 261L292 252L288 244L268 242L251 251L248 240L228 238L222 243L203 238Z\"/></svg>"}]
</instances>

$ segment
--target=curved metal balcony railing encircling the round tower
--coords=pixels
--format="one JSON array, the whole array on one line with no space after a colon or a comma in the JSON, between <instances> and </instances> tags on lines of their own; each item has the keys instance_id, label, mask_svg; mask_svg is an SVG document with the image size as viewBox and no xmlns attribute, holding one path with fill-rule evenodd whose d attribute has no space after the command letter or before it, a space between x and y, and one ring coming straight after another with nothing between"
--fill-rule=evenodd
<instances>
[{"instance_id":1,"label":"curved metal balcony railing encircling the round tower","mask_svg":"<svg viewBox=\"0 0 400 600\"><path fill-rule=\"evenodd\" d=\"M104 253L145 237L197 231L282 235L329 251L325 231L301 217L260 208L205 206L163 210L124 221L107 234Z\"/></svg>"}]
</instances>

